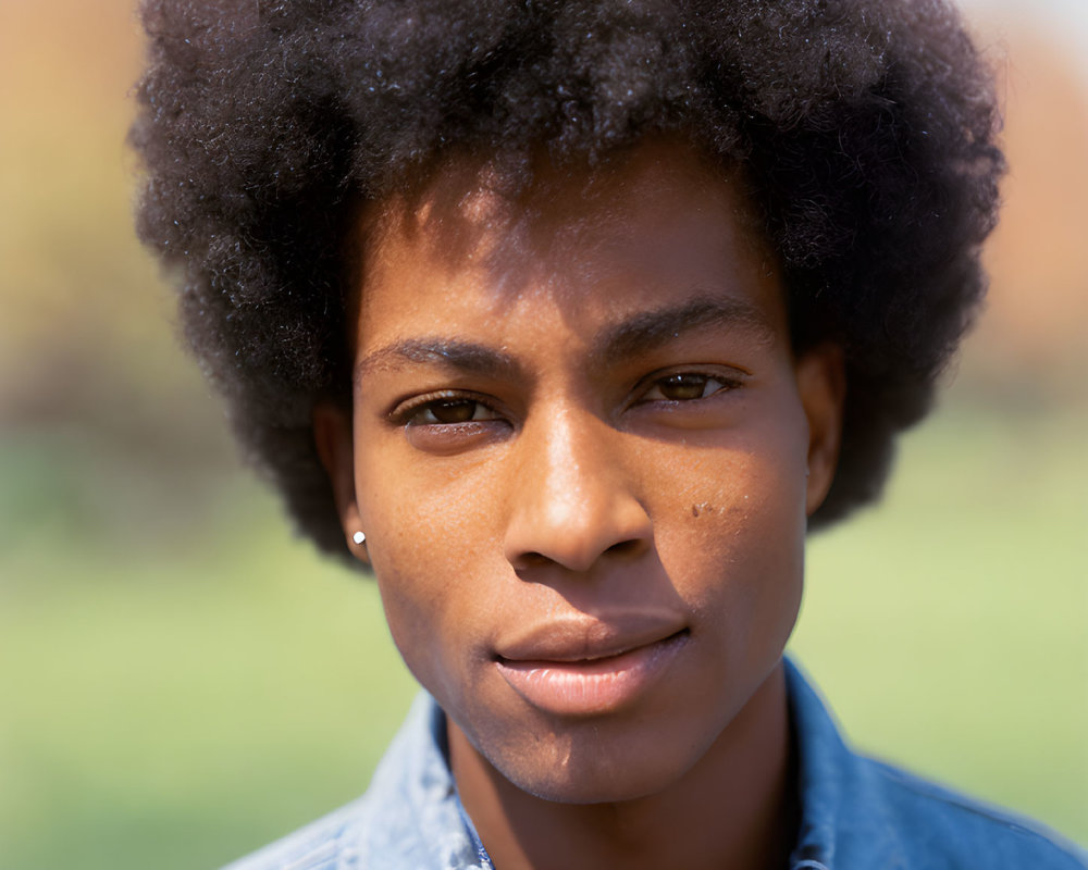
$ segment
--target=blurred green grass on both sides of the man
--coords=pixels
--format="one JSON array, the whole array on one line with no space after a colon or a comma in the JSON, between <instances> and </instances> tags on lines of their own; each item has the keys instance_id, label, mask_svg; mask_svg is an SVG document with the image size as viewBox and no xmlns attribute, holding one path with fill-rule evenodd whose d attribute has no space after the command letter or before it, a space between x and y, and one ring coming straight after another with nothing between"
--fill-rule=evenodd
<instances>
[{"instance_id":1,"label":"blurred green grass on both sides of the man","mask_svg":"<svg viewBox=\"0 0 1088 870\"><path fill-rule=\"evenodd\" d=\"M1081 842L1086 423L910 435L812 542L792 644L860 746ZM77 440L0 450L0 866L212 868L361 793L415 691L373 585L245 476L141 492Z\"/></svg>"}]
</instances>

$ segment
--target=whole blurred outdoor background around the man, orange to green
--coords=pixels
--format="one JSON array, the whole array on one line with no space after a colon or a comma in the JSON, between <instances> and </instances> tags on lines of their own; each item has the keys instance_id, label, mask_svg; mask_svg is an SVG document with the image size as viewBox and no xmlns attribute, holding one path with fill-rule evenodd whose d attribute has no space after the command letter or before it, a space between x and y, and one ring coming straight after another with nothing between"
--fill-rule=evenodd
<instances>
[{"instance_id":1,"label":"whole blurred outdoor background around the man, orange to green","mask_svg":"<svg viewBox=\"0 0 1088 870\"><path fill-rule=\"evenodd\" d=\"M990 304L794 655L853 741L1088 842L1088 4L967 12ZM238 468L131 231L126 0L0 0L0 866L214 868L361 793L413 687Z\"/></svg>"}]
</instances>

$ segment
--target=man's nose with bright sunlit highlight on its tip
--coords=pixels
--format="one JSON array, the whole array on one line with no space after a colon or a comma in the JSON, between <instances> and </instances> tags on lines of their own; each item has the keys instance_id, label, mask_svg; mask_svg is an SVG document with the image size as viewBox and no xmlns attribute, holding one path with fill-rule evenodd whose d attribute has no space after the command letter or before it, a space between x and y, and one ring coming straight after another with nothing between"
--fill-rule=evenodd
<instances>
[{"instance_id":1,"label":"man's nose with bright sunlit highlight on its tip","mask_svg":"<svg viewBox=\"0 0 1088 870\"><path fill-rule=\"evenodd\" d=\"M589 572L606 556L645 551L650 514L625 469L616 432L592 413L554 410L518 436L506 558L516 570L557 564Z\"/></svg>"}]
</instances>

